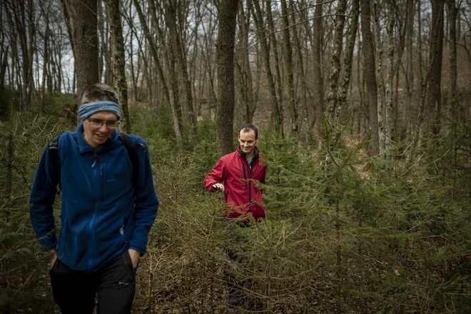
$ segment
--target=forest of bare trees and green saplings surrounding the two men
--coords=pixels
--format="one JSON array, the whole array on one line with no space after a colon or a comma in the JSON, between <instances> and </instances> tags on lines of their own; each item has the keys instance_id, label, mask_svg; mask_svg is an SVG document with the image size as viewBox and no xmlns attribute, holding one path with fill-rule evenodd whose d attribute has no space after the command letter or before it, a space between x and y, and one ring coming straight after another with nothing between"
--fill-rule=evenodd
<instances>
[{"instance_id":1,"label":"forest of bare trees and green saplings surrounding the two men","mask_svg":"<svg viewBox=\"0 0 471 314\"><path fill-rule=\"evenodd\" d=\"M471 313L470 0L4 0L0 19L1 313L59 313L29 191L98 81L161 202L133 313L241 313L224 268L258 313ZM242 123L268 160L245 267L203 187Z\"/></svg>"}]
</instances>

